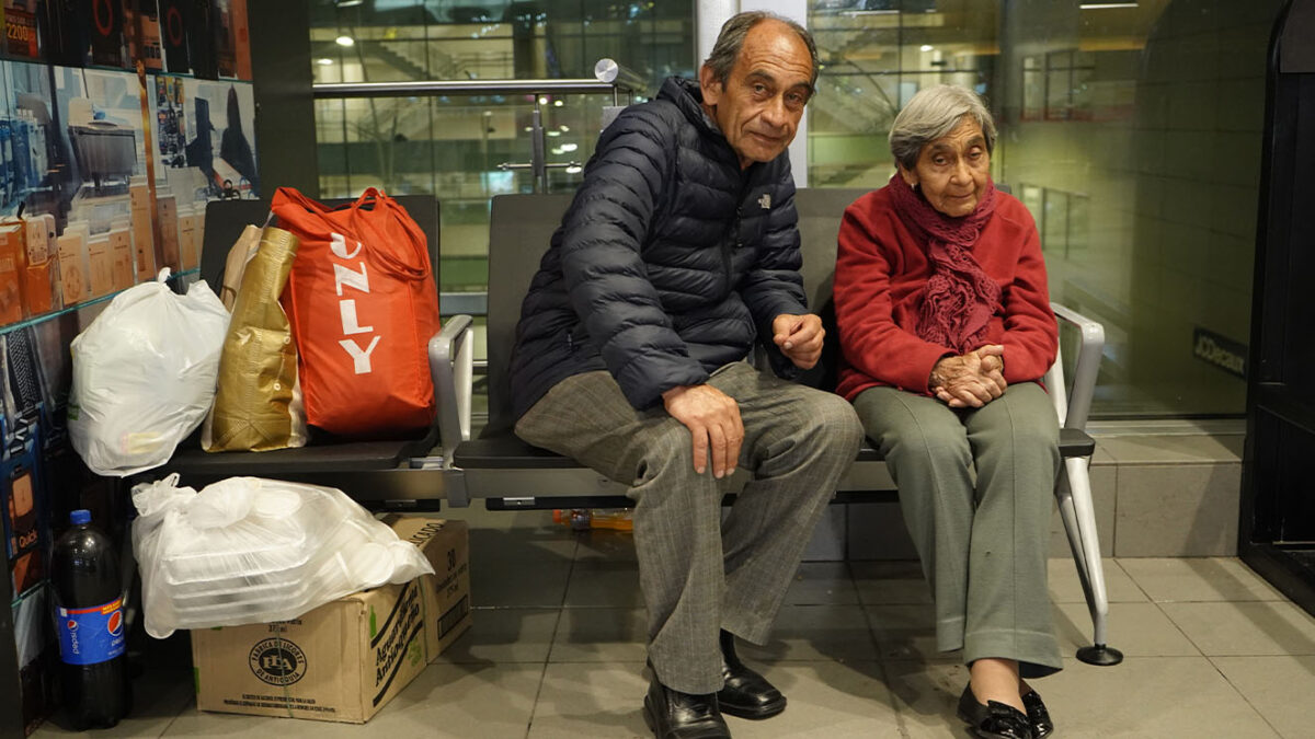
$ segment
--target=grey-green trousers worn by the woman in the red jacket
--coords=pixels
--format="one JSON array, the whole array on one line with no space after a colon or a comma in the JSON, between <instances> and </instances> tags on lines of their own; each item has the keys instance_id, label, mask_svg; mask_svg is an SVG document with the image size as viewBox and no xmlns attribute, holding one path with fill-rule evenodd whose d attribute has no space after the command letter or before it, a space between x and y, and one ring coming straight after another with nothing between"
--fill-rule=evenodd
<instances>
[{"instance_id":1,"label":"grey-green trousers worn by the woman in the red jacket","mask_svg":"<svg viewBox=\"0 0 1315 739\"><path fill-rule=\"evenodd\" d=\"M853 400L899 487L899 508L936 602L936 647L1063 667L1045 583L1059 422L1036 383L980 409L871 388ZM976 481L973 472L976 471Z\"/></svg>"}]
</instances>

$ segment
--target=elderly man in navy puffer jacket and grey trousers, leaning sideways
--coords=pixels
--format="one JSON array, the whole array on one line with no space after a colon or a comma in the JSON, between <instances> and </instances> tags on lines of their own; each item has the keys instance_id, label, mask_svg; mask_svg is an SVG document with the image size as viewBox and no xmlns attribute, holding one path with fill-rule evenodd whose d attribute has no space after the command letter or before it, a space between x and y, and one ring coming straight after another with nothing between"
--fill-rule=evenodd
<instances>
[{"instance_id":1,"label":"elderly man in navy puffer jacket and grey trousers, leaning sideways","mask_svg":"<svg viewBox=\"0 0 1315 739\"><path fill-rule=\"evenodd\" d=\"M767 640L863 434L839 397L744 362L757 339L788 379L822 350L785 155L815 79L800 25L727 21L698 84L668 79L602 133L521 309L515 433L631 485L659 738L785 709L734 639Z\"/></svg>"}]
</instances>

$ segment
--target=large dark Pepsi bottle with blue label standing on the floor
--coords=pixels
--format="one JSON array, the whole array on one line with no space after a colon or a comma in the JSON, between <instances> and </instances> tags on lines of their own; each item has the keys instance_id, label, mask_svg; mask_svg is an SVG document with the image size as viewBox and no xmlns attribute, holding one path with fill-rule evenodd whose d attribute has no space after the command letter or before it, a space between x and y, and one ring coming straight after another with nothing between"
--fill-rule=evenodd
<instances>
[{"instance_id":1,"label":"large dark Pepsi bottle with blue label standing on the floor","mask_svg":"<svg viewBox=\"0 0 1315 739\"><path fill-rule=\"evenodd\" d=\"M70 521L51 555L63 702L71 728L109 728L133 701L118 556L89 512Z\"/></svg>"}]
</instances>

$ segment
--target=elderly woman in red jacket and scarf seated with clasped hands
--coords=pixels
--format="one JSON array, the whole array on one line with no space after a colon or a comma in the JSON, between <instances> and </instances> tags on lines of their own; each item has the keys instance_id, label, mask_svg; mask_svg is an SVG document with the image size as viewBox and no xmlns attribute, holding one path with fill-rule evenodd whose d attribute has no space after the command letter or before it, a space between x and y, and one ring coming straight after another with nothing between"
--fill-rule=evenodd
<instances>
[{"instance_id":1,"label":"elderly woman in red jacket and scarf seated with clasped hands","mask_svg":"<svg viewBox=\"0 0 1315 739\"><path fill-rule=\"evenodd\" d=\"M844 212L835 270L853 402L899 485L936 611L963 650L977 736L1052 730L1023 679L1059 671L1045 585L1059 425L1038 380L1057 329L1036 226L994 188L981 99L923 89L896 117L898 172Z\"/></svg>"}]
</instances>

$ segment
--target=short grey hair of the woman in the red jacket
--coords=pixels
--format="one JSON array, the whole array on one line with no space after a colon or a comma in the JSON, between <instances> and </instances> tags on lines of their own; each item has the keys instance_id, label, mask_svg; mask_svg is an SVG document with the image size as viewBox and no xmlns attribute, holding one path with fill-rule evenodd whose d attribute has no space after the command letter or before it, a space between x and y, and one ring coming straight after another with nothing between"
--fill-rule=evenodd
<instances>
[{"instance_id":1,"label":"short grey hair of the woman in the red jacket","mask_svg":"<svg viewBox=\"0 0 1315 739\"><path fill-rule=\"evenodd\" d=\"M918 91L890 125L890 154L905 170L918 164L927 143L948 135L964 116L970 116L986 137L986 153L995 151L995 121L982 99L967 87L938 84Z\"/></svg>"}]
</instances>

